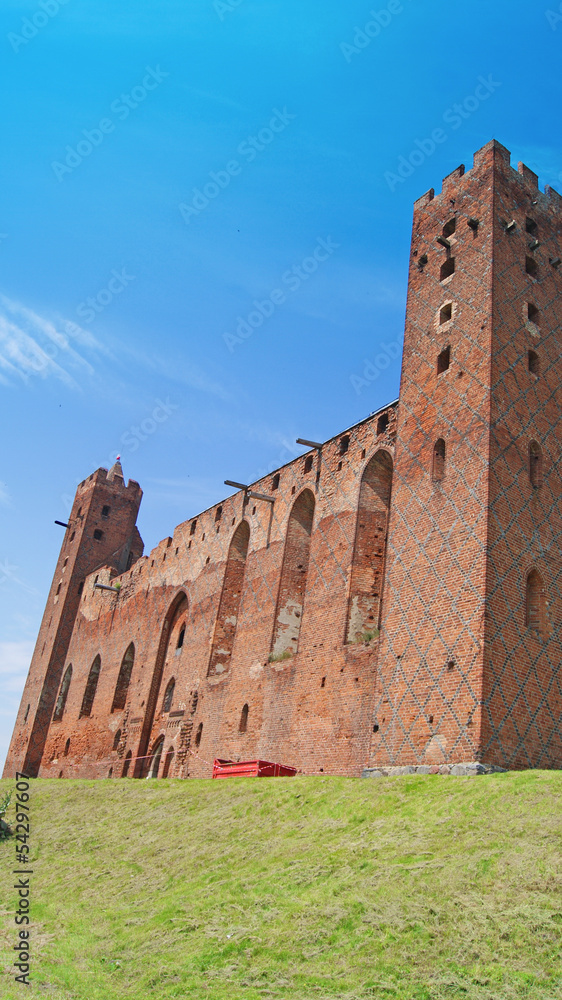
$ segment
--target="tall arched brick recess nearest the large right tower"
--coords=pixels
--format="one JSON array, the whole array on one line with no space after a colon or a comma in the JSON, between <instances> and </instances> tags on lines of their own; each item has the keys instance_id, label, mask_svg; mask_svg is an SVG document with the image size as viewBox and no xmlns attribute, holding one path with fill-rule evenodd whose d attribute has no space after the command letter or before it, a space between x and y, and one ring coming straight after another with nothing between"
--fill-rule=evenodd
<instances>
[{"instance_id":1,"label":"tall arched brick recess nearest the large right tower","mask_svg":"<svg viewBox=\"0 0 562 1000\"><path fill-rule=\"evenodd\" d=\"M347 615L347 642L376 638L382 614L392 457L378 451L361 480Z\"/></svg>"}]
</instances>

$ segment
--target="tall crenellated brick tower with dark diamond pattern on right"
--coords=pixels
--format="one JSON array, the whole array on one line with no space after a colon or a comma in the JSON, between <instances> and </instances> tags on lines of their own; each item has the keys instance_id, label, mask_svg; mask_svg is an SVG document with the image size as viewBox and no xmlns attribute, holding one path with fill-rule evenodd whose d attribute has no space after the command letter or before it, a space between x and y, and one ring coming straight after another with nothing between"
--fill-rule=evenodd
<instances>
[{"instance_id":1,"label":"tall crenellated brick tower with dark diamond pattern on right","mask_svg":"<svg viewBox=\"0 0 562 1000\"><path fill-rule=\"evenodd\" d=\"M415 203L370 766L560 766L562 199L498 142Z\"/></svg>"}]
</instances>

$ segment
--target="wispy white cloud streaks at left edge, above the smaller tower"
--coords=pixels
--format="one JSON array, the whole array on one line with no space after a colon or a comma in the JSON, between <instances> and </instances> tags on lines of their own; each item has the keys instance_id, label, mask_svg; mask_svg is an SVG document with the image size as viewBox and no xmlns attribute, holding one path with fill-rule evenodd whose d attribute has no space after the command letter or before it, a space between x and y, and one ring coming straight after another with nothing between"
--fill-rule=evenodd
<instances>
[{"instance_id":1,"label":"wispy white cloud streaks at left edge, above the smaller tower","mask_svg":"<svg viewBox=\"0 0 562 1000\"><path fill-rule=\"evenodd\" d=\"M56 378L70 389L79 389L80 376L94 374L84 351L106 353L76 323L46 319L0 294L0 381L4 385L18 380L28 383L35 376Z\"/></svg>"}]
</instances>

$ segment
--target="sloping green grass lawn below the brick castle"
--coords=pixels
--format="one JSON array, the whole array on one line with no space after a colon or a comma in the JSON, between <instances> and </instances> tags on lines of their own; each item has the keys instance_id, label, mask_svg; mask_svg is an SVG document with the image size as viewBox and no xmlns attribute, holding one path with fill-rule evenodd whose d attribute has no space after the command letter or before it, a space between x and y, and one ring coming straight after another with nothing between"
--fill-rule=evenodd
<instances>
[{"instance_id":1,"label":"sloping green grass lawn below the brick castle","mask_svg":"<svg viewBox=\"0 0 562 1000\"><path fill-rule=\"evenodd\" d=\"M3 842L0 995L562 997L561 790L545 771L36 781L33 985L10 970Z\"/></svg>"}]
</instances>

